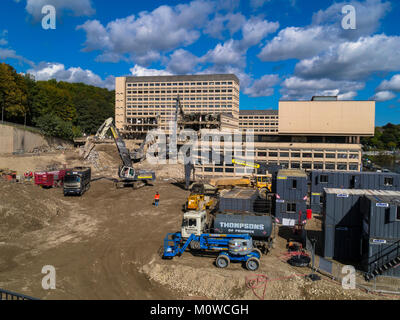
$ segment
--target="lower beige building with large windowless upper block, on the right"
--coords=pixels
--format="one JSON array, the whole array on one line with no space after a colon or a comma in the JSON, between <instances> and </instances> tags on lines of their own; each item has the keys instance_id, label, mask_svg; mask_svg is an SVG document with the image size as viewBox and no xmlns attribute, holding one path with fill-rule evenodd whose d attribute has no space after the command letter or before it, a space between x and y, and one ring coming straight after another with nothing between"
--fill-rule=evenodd
<instances>
[{"instance_id":1,"label":"lower beige building with large windowless upper block, on the right","mask_svg":"<svg viewBox=\"0 0 400 320\"><path fill-rule=\"evenodd\" d=\"M261 122L264 130L260 130ZM338 101L335 97L281 101L279 111L241 110L239 126L254 132L251 153L256 162L290 169L360 171L360 138L374 135L375 102ZM252 170L231 163L197 166L197 174L202 177L242 175Z\"/></svg>"}]
</instances>

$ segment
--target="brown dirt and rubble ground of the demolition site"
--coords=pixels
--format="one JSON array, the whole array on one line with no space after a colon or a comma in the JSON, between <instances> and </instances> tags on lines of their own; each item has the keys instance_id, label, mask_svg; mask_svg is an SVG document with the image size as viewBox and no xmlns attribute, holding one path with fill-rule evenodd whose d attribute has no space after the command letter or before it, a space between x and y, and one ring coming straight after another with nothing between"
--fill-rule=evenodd
<instances>
[{"instance_id":1,"label":"brown dirt and rubble ground of the demolition site","mask_svg":"<svg viewBox=\"0 0 400 320\"><path fill-rule=\"evenodd\" d=\"M115 177L119 158L114 149L96 147L93 178ZM4 155L0 168L23 174L48 166L93 166L95 160L83 163L77 150ZM398 298L344 290L325 276L316 282L305 279L311 270L286 262L283 236L277 236L276 247L262 257L256 273L234 263L218 269L215 257L190 252L162 260L163 239L179 231L189 193L176 183L183 175L179 165L154 169L159 177L154 186L116 189L111 181L98 180L82 197L64 197L60 188L0 180L0 288L40 299ZM158 208L153 206L155 192L161 195ZM55 290L42 288L46 265L56 268ZM249 280L255 279L259 283L251 289Z\"/></svg>"}]
</instances>

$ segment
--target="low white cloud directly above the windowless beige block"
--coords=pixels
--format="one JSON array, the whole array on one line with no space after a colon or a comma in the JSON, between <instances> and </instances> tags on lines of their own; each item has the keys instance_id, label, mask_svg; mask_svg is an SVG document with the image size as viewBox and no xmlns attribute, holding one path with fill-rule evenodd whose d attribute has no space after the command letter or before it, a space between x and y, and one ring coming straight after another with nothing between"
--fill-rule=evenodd
<instances>
[{"instance_id":1,"label":"low white cloud directly above the windowless beige block","mask_svg":"<svg viewBox=\"0 0 400 320\"><path fill-rule=\"evenodd\" d=\"M281 94L285 100L309 100L313 96L338 96L340 100L350 100L365 84L355 81L333 81L330 79L302 79L290 77L282 83Z\"/></svg>"}]
</instances>

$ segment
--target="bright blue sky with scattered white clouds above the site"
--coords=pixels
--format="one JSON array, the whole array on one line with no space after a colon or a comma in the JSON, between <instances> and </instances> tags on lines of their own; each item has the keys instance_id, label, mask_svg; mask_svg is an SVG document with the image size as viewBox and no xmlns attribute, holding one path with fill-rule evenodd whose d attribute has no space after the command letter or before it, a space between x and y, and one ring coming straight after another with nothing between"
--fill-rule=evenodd
<instances>
[{"instance_id":1,"label":"bright blue sky with scattered white clouds above the site","mask_svg":"<svg viewBox=\"0 0 400 320\"><path fill-rule=\"evenodd\" d=\"M42 28L44 5L56 29ZM356 29L342 28L352 5ZM388 0L2 0L0 61L112 89L121 75L235 73L241 109L313 95L377 100L400 123L400 3Z\"/></svg>"}]
</instances>

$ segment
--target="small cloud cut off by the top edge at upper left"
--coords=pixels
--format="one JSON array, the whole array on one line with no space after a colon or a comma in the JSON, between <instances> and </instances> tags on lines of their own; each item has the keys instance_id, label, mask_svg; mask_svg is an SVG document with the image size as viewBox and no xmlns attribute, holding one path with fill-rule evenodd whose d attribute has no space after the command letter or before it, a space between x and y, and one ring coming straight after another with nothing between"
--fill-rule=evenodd
<instances>
[{"instance_id":1,"label":"small cloud cut off by the top edge at upper left","mask_svg":"<svg viewBox=\"0 0 400 320\"><path fill-rule=\"evenodd\" d=\"M42 8L46 5L54 6L57 13L69 11L75 16L91 16L95 13L90 0L27 0L26 11L38 21L42 19Z\"/></svg>"}]
</instances>

